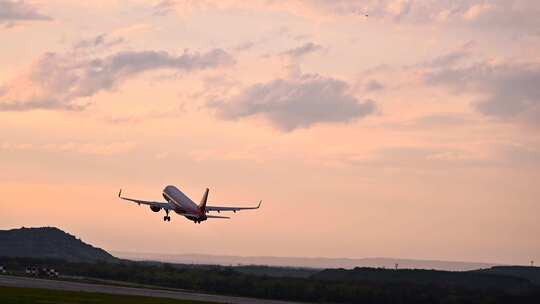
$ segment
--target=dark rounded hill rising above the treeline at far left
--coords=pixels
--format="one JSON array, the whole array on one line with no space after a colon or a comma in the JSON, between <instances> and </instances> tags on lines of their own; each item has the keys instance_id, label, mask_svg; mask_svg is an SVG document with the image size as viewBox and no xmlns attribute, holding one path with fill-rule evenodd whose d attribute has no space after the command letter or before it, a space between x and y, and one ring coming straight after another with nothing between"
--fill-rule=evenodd
<instances>
[{"instance_id":1,"label":"dark rounded hill rising above the treeline at far left","mask_svg":"<svg viewBox=\"0 0 540 304\"><path fill-rule=\"evenodd\" d=\"M55 258L72 262L117 261L101 248L58 228L0 230L0 257Z\"/></svg>"}]
</instances>

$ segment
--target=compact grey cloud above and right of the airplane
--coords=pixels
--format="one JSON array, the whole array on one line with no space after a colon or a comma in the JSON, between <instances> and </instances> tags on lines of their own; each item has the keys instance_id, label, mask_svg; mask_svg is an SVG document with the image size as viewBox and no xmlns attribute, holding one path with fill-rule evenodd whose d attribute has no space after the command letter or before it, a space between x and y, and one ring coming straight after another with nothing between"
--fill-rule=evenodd
<instances>
[{"instance_id":1,"label":"compact grey cloud above and right of the airplane","mask_svg":"<svg viewBox=\"0 0 540 304\"><path fill-rule=\"evenodd\" d=\"M349 122L372 114L375 103L360 102L341 80L304 74L246 88L227 101L209 103L218 117L236 120L262 116L282 131L308 128L317 123Z\"/></svg>"}]
</instances>

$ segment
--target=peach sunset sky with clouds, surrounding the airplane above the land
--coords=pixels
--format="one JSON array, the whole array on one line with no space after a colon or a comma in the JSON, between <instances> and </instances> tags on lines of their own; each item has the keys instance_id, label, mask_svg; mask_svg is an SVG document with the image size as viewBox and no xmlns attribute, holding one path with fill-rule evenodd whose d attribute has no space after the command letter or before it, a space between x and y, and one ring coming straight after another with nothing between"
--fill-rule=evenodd
<instances>
[{"instance_id":1,"label":"peach sunset sky with clouds, surrounding the airplane above the land","mask_svg":"<svg viewBox=\"0 0 540 304\"><path fill-rule=\"evenodd\" d=\"M0 229L540 262L540 2L0 0ZM200 225L120 201L249 206Z\"/></svg>"}]
</instances>

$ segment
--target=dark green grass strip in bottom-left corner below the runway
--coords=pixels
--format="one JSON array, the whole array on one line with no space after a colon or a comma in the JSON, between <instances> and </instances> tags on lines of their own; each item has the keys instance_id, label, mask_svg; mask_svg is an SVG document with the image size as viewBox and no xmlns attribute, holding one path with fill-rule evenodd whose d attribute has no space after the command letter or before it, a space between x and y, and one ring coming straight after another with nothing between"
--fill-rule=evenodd
<instances>
[{"instance_id":1,"label":"dark green grass strip in bottom-left corner below the runway","mask_svg":"<svg viewBox=\"0 0 540 304\"><path fill-rule=\"evenodd\" d=\"M108 295L101 293L59 291L48 289L0 287L2 304L211 304L139 296Z\"/></svg>"}]
</instances>

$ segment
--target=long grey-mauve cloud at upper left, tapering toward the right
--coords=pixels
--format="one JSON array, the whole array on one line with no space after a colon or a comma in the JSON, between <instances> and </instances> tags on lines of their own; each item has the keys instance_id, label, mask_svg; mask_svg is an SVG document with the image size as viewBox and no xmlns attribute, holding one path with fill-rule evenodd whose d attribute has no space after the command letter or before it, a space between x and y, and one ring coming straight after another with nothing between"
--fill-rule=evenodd
<instances>
[{"instance_id":1,"label":"long grey-mauve cloud at upper left, tapering toward the right","mask_svg":"<svg viewBox=\"0 0 540 304\"><path fill-rule=\"evenodd\" d=\"M102 39L89 40L102 45ZM77 45L75 48L78 48ZM87 52L46 53L26 73L0 90L0 111L33 109L82 110L80 102L101 91L111 91L144 72L169 69L190 72L232 64L221 49L174 55L164 51L121 51L108 56Z\"/></svg>"}]
</instances>

